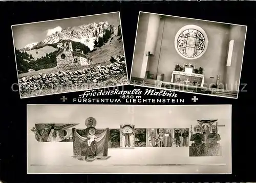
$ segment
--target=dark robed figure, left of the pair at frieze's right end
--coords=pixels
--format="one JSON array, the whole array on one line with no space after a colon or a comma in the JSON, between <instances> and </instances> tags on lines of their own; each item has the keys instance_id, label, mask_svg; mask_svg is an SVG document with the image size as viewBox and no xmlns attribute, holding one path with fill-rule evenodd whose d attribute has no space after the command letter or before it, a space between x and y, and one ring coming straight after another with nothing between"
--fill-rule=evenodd
<instances>
[{"instance_id":1,"label":"dark robed figure, left of the pair at frieze's right end","mask_svg":"<svg viewBox=\"0 0 256 183\"><path fill-rule=\"evenodd\" d=\"M191 137L190 141L194 141L191 146L189 146L189 156L204 156L205 155L205 138L202 134L202 127L200 125L196 125L194 127L194 131L196 132L193 134L192 126L191 126Z\"/></svg>"}]
</instances>

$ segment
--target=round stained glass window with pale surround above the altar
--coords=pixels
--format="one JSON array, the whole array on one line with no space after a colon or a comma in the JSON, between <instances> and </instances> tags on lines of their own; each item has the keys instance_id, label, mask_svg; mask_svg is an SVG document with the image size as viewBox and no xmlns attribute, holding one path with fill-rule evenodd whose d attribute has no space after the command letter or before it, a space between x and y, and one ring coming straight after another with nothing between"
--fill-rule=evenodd
<instances>
[{"instance_id":1,"label":"round stained glass window with pale surround above the altar","mask_svg":"<svg viewBox=\"0 0 256 183\"><path fill-rule=\"evenodd\" d=\"M208 38L204 30L197 25L186 25L175 37L175 48L186 59L201 57L207 48Z\"/></svg>"}]
</instances>

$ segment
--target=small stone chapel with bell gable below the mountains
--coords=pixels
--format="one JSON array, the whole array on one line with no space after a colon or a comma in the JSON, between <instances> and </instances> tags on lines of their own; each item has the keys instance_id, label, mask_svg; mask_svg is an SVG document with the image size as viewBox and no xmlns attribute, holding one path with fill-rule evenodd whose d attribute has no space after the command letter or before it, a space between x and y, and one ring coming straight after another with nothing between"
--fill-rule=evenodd
<instances>
[{"instance_id":1,"label":"small stone chapel with bell gable below the mountains","mask_svg":"<svg viewBox=\"0 0 256 183\"><path fill-rule=\"evenodd\" d=\"M64 47L56 54L58 68L75 68L92 64L92 58L84 55L83 51L73 51L72 42L67 41Z\"/></svg>"}]
</instances>

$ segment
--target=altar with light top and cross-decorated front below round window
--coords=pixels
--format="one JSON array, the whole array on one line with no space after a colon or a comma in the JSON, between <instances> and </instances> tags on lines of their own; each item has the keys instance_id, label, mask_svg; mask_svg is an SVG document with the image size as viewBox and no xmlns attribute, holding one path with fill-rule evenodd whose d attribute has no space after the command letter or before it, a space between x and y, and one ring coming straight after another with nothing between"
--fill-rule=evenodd
<instances>
[{"instance_id":1,"label":"altar with light top and cross-decorated front below round window","mask_svg":"<svg viewBox=\"0 0 256 183\"><path fill-rule=\"evenodd\" d=\"M173 71L171 83L203 87L204 75L183 71Z\"/></svg>"}]
</instances>

